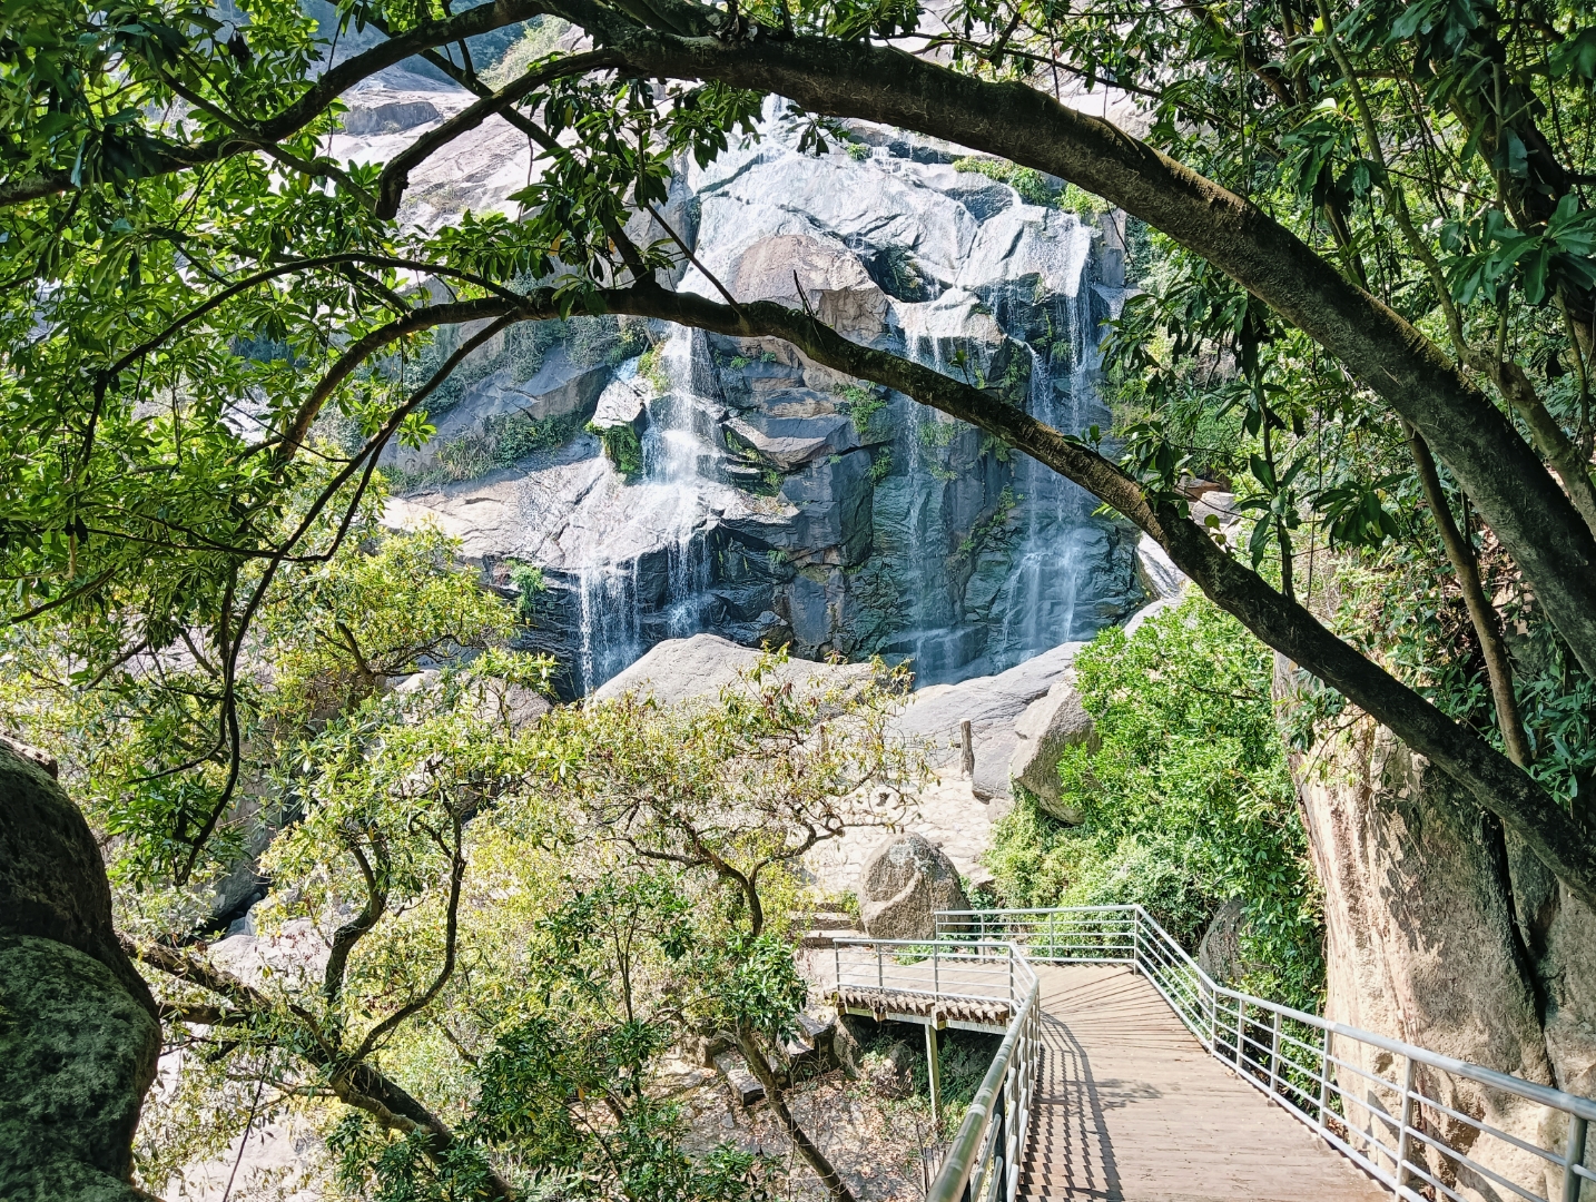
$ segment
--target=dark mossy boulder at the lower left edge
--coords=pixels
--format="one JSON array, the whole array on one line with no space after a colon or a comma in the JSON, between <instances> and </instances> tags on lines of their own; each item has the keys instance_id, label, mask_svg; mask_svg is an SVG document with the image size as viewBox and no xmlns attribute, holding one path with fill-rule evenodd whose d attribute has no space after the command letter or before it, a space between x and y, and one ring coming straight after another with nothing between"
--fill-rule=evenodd
<instances>
[{"instance_id":1,"label":"dark mossy boulder at the lower left edge","mask_svg":"<svg viewBox=\"0 0 1596 1202\"><path fill-rule=\"evenodd\" d=\"M0 741L0 1197L132 1202L161 1026L77 806Z\"/></svg>"}]
</instances>

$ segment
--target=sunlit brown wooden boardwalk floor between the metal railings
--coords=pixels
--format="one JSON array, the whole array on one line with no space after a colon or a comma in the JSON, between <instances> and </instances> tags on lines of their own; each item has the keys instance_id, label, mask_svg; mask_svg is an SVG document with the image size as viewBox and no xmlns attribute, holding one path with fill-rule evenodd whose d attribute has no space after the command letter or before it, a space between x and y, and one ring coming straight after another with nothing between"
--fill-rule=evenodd
<instances>
[{"instance_id":1,"label":"sunlit brown wooden boardwalk floor between the metal railings","mask_svg":"<svg viewBox=\"0 0 1596 1202\"><path fill-rule=\"evenodd\" d=\"M1213 1060L1125 966L1036 966L1042 1066L1020 1196L1374 1202L1389 1191Z\"/></svg>"}]
</instances>

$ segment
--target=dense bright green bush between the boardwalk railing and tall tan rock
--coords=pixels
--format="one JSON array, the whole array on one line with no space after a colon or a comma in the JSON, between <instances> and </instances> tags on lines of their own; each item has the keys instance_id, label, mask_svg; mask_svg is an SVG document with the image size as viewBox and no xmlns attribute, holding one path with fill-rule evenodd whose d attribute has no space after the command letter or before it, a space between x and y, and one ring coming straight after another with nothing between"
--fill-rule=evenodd
<instances>
[{"instance_id":1,"label":"dense bright green bush between the boardwalk railing and tall tan rock","mask_svg":"<svg viewBox=\"0 0 1596 1202\"><path fill-rule=\"evenodd\" d=\"M1021 797L990 865L1009 905L1140 902L1187 948L1243 902L1246 988L1312 1009L1323 988L1318 888L1270 701L1274 662L1202 597L1112 627L1076 658L1098 749L1066 749L1069 827Z\"/></svg>"}]
</instances>

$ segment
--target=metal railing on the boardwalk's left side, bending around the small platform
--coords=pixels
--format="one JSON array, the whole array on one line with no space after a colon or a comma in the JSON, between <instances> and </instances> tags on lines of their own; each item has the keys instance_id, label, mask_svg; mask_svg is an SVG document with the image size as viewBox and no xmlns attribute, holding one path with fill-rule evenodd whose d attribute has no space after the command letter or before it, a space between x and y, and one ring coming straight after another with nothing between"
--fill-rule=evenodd
<instances>
[{"instance_id":1,"label":"metal railing on the boardwalk's left side, bending around the small platform","mask_svg":"<svg viewBox=\"0 0 1596 1202\"><path fill-rule=\"evenodd\" d=\"M1015 1202L1031 1133L1042 1006L1036 971L1012 942L839 939L836 996L919 1001L926 1018L1001 1004L1007 1026L991 1068L942 1157L926 1202Z\"/></svg>"}]
</instances>

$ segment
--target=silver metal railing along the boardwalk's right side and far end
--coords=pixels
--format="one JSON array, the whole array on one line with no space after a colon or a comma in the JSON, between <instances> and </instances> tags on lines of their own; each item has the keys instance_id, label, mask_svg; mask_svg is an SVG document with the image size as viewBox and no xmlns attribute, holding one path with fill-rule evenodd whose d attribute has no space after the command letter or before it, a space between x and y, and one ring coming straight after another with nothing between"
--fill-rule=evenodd
<instances>
[{"instance_id":1,"label":"silver metal railing along the boardwalk's right side and far end","mask_svg":"<svg viewBox=\"0 0 1596 1202\"><path fill-rule=\"evenodd\" d=\"M1218 985L1140 905L943 911L937 937L1128 964L1219 1063L1398 1199L1596 1199L1585 1140L1596 1100Z\"/></svg>"}]
</instances>

